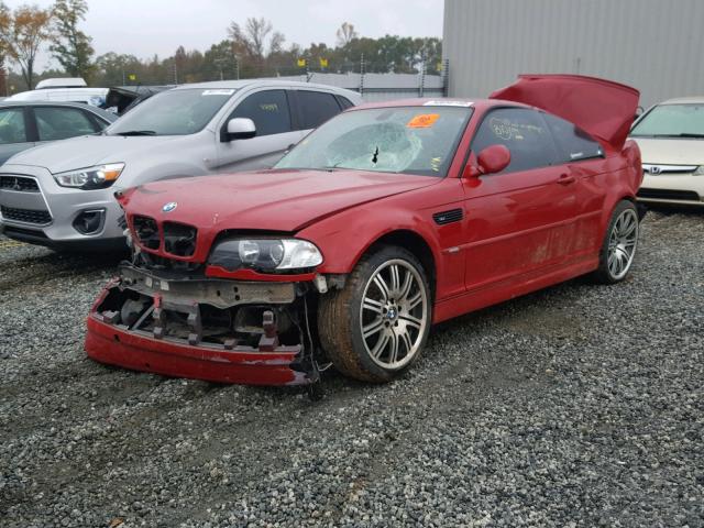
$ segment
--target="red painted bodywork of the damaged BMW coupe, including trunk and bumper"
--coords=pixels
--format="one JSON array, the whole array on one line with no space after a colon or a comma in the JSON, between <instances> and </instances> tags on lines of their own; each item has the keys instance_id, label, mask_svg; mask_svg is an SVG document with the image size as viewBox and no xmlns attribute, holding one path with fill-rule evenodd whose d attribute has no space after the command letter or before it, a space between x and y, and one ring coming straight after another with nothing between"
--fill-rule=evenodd
<instances>
[{"instance_id":1,"label":"red painted bodywork of the damaged BMW coupe, including trunk and bumper","mask_svg":"<svg viewBox=\"0 0 704 528\"><path fill-rule=\"evenodd\" d=\"M314 273L293 276L207 267L210 277L239 280L307 282L316 274L348 274L380 239L399 232L416 237L435 263L433 320L439 322L594 271L614 207L635 199L642 179L637 145L624 144L636 90L576 76L529 76L493 97L473 101L474 113L446 178L265 170L158 182L125 191L120 202L129 221L144 215L160 226L170 220L197 227L197 249L186 261L206 263L216 238L242 233L305 239L324 258ZM465 170L480 166L470 144L486 112L507 105L525 108L507 100L571 120L603 142L604 157L506 174ZM502 156L494 154L483 161L485 166L498 166ZM162 212L169 201L178 207ZM435 222L433 213L452 209L461 209L463 220ZM289 367L290 354L176 345L127 334L94 317L88 329L89 355L107 363L232 383L300 383L301 374Z\"/></svg>"}]
</instances>

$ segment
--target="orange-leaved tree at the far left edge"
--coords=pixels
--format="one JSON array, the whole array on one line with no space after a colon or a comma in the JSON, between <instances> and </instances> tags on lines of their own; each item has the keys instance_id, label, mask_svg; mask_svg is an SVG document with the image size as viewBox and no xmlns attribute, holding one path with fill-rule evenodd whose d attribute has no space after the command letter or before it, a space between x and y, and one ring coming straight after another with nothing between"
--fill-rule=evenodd
<instances>
[{"instance_id":1,"label":"orange-leaved tree at the far left edge","mask_svg":"<svg viewBox=\"0 0 704 528\"><path fill-rule=\"evenodd\" d=\"M36 6L20 6L7 12L7 30L0 33L0 47L22 70L28 89L34 88L34 62L41 45L52 37L52 11Z\"/></svg>"}]
</instances>

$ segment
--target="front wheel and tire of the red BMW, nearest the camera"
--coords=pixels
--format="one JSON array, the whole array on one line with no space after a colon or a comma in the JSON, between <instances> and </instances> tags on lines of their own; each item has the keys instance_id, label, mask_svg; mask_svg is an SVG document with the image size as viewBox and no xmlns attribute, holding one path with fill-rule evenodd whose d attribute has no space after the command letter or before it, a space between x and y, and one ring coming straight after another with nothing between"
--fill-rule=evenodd
<instances>
[{"instance_id":1,"label":"front wheel and tire of the red BMW, nearest the camera","mask_svg":"<svg viewBox=\"0 0 704 528\"><path fill-rule=\"evenodd\" d=\"M385 383L420 356L432 321L428 275L398 246L363 256L344 288L320 298L318 334L332 364L355 380Z\"/></svg>"}]
</instances>

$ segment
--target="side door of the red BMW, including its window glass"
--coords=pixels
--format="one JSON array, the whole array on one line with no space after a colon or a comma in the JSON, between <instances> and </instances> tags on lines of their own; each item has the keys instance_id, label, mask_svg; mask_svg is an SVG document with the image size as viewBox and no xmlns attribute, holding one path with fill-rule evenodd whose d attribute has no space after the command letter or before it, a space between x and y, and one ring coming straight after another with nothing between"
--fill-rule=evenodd
<instances>
[{"instance_id":1,"label":"side door of the red BMW, including its window glass","mask_svg":"<svg viewBox=\"0 0 704 528\"><path fill-rule=\"evenodd\" d=\"M529 282L563 265L572 251L575 178L541 113L491 110L474 134L472 153L495 144L509 150L508 167L464 180L469 290Z\"/></svg>"}]
</instances>

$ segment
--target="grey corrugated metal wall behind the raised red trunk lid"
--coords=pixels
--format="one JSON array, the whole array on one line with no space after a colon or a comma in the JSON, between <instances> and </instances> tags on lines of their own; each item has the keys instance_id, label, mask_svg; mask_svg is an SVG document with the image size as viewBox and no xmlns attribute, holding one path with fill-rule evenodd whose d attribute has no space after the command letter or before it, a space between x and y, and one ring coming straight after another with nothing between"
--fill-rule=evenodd
<instances>
[{"instance_id":1,"label":"grey corrugated metal wall behind the raised red trunk lid","mask_svg":"<svg viewBox=\"0 0 704 528\"><path fill-rule=\"evenodd\" d=\"M704 0L446 0L442 44L454 97L522 73L616 80L644 107L704 96Z\"/></svg>"}]
</instances>

